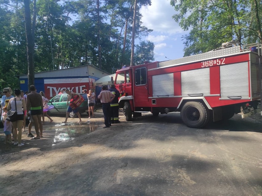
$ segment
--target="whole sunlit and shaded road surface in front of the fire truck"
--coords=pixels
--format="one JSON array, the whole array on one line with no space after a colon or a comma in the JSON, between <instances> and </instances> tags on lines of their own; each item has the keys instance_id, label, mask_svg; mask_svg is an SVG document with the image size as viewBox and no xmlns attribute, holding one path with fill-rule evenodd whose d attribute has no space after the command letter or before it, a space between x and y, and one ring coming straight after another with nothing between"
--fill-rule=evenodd
<instances>
[{"instance_id":1,"label":"whole sunlit and shaded road surface in front of the fire truck","mask_svg":"<svg viewBox=\"0 0 262 196\"><path fill-rule=\"evenodd\" d=\"M259 115L205 129L176 113L120 116L106 129L96 116L54 117L41 140L23 133L21 148L3 144L1 131L0 195L262 195Z\"/></svg>"}]
</instances>

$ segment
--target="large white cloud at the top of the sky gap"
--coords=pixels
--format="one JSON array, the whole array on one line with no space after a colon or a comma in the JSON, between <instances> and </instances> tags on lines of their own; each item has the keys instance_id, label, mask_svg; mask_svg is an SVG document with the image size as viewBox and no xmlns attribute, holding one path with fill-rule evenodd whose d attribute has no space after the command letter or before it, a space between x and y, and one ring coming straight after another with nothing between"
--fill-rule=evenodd
<instances>
[{"instance_id":1,"label":"large white cloud at the top of the sky gap","mask_svg":"<svg viewBox=\"0 0 262 196\"><path fill-rule=\"evenodd\" d=\"M151 6L143 6L140 9L143 25L154 31L176 34L183 30L172 16L175 14L174 7L170 0L151 0Z\"/></svg>"}]
</instances>

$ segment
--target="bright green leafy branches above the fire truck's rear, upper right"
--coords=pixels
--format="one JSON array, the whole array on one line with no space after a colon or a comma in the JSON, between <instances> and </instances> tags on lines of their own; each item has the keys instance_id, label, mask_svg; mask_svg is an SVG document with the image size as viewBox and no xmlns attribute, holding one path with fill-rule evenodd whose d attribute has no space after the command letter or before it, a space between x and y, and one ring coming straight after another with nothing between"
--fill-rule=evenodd
<instances>
[{"instance_id":1,"label":"bright green leafy branches above the fire truck's rear, upper right","mask_svg":"<svg viewBox=\"0 0 262 196\"><path fill-rule=\"evenodd\" d=\"M185 56L207 52L234 40L240 45L261 42L262 4L256 0L171 0L183 36ZM256 9L255 5L258 5Z\"/></svg>"}]
</instances>

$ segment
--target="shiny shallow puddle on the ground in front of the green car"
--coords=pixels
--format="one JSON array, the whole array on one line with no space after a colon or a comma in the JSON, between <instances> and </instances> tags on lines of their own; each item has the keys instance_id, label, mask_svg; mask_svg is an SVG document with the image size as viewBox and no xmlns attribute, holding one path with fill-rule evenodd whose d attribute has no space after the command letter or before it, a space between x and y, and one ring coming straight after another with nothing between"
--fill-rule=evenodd
<instances>
[{"instance_id":1,"label":"shiny shallow puddle on the ground in front of the green car","mask_svg":"<svg viewBox=\"0 0 262 196\"><path fill-rule=\"evenodd\" d=\"M52 146L61 142L73 140L84 134L88 134L97 129L97 125L89 122L69 122L55 125L55 136Z\"/></svg>"}]
</instances>

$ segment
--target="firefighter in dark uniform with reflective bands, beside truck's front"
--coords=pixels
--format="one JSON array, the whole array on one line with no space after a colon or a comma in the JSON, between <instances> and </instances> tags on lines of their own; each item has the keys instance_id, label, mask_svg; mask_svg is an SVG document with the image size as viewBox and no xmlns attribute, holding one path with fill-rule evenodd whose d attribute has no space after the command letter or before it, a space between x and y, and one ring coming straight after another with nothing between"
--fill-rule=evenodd
<instances>
[{"instance_id":1,"label":"firefighter in dark uniform with reflective bands, beside truck's front","mask_svg":"<svg viewBox=\"0 0 262 196\"><path fill-rule=\"evenodd\" d=\"M114 84L111 84L110 85L110 89L109 91L112 92L112 94L115 95L115 98L113 99L113 101L111 102L110 106L111 106L111 123L119 123L119 118L118 118L118 115L119 115L119 112L118 112L118 98L120 96L120 93L119 91L116 89L115 85Z\"/></svg>"}]
</instances>

